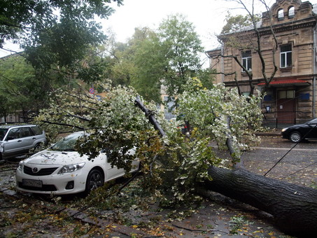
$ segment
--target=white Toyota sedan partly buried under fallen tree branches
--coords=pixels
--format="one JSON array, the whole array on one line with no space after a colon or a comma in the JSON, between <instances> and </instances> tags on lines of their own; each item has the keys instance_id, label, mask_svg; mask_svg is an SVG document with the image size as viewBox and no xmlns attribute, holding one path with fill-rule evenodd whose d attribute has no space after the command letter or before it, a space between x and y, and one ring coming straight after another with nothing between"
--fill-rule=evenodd
<instances>
[{"instance_id":1,"label":"white Toyota sedan partly buried under fallen tree branches","mask_svg":"<svg viewBox=\"0 0 317 238\"><path fill-rule=\"evenodd\" d=\"M15 175L17 190L55 195L89 193L106 181L124 176L124 169L111 167L107 162L106 153L101 152L97 158L88 160L87 155L80 157L74 151L78 137L83 134L70 134L48 150L22 160ZM131 172L136 172L139 161L134 160L132 168Z\"/></svg>"}]
</instances>

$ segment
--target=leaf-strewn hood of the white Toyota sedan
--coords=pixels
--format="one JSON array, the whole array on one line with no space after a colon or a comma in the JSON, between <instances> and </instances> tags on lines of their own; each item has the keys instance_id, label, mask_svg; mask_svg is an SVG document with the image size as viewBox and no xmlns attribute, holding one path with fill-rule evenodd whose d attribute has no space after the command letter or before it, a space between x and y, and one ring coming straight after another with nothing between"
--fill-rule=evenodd
<instances>
[{"instance_id":1,"label":"leaf-strewn hood of the white Toyota sedan","mask_svg":"<svg viewBox=\"0 0 317 238\"><path fill-rule=\"evenodd\" d=\"M72 165L87 162L87 155L80 157L76 151L41 151L24 160L24 164L34 165Z\"/></svg>"}]
</instances>

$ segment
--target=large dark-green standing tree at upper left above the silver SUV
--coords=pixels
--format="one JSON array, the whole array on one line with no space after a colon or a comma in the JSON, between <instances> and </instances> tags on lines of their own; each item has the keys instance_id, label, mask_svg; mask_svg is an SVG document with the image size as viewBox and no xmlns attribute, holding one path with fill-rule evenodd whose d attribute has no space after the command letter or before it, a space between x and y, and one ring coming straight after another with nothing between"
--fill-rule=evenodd
<instances>
[{"instance_id":1,"label":"large dark-green standing tree at upper left above the silver SUV","mask_svg":"<svg viewBox=\"0 0 317 238\"><path fill-rule=\"evenodd\" d=\"M34 68L31 71L23 65L21 70L29 69L31 73L14 74L3 63L3 90L9 87L5 93L7 104L14 105L13 111L38 111L55 87L77 87L78 80L91 86L106 76L109 62L101 58L99 49L106 36L94 19L113 13L108 3L111 0L1 1L0 47L8 39L20 43L22 56Z\"/></svg>"}]
</instances>

